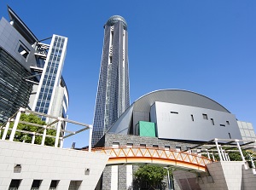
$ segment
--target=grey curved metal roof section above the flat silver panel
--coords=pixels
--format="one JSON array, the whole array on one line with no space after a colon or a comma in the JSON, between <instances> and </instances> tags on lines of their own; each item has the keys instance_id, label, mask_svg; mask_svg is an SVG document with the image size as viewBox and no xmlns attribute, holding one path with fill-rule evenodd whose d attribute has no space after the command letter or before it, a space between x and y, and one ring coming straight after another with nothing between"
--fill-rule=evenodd
<instances>
[{"instance_id":1,"label":"grey curved metal roof section above the flat silver panel","mask_svg":"<svg viewBox=\"0 0 256 190\"><path fill-rule=\"evenodd\" d=\"M150 112L150 107L155 101L229 112L225 107L207 96L183 89L160 89L143 95L133 103L133 111Z\"/></svg>"}]
</instances>

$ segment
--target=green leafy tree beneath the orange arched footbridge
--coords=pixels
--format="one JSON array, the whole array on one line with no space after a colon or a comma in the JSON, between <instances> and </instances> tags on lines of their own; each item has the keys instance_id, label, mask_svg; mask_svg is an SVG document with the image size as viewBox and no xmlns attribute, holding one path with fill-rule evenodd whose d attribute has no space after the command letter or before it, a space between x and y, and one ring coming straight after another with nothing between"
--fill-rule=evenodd
<instances>
[{"instance_id":1,"label":"green leafy tree beneath the orange arched footbridge","mask_svg":"<svg viewBox=\"0 0 256 190\"><path fill-rule=\"evenodd\" d=\"M167 170L164 167L151 164L140 166L134 174L135 183L142 186L146 181L149 189L157 189L160 185L166 186L166 183L162 182L165 176L167 176Z\"/></svg>"}]
</instances>

